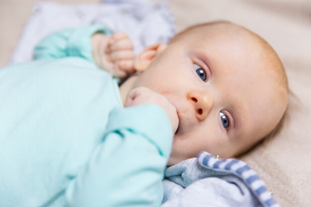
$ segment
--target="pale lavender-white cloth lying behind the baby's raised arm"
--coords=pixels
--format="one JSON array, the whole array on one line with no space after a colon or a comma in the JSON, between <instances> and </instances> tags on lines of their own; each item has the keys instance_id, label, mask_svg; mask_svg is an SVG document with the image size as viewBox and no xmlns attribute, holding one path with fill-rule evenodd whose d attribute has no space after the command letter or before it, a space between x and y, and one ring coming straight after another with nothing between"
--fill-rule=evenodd
<instances>
[{"instance_id":1,"label":"pale lavender-white cloth lying behind the baby's raised arm","mask_svg":"<svg viewBox=\"0 0 311 207\"><path fill-rule=\"evenodd\" d=\"M175 33L174 17L165 2L106 0L69 5L42 1L33 6L9 64L30 61L35 45L52 32L91 23L125 31L136 54L146 46L167 42Z\"/></svg>"}]
</instances>

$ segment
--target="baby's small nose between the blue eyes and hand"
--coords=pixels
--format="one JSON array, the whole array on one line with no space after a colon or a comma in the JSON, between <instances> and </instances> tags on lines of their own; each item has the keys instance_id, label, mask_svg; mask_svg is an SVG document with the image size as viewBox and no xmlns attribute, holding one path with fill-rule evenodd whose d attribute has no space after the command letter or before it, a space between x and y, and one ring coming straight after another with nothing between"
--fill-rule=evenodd
<instances>
[{"instance_id":1,"label":"baby's small nose between the blue eyes and hand","mask_svg":"<svg viewBox=\"0 0 311 207\"><path fill-rule=\"evenodd\" d=\"M213 96L205 92L191 91L187 97L194 105L197 119L200 121L205 120L214 105Z\"/></svg>"}]
</instances>

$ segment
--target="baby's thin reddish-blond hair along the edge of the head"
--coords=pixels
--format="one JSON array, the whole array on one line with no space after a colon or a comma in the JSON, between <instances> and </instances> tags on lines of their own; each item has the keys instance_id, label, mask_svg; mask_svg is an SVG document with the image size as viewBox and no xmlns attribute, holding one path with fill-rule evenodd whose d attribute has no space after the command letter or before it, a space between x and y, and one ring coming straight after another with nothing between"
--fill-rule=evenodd
<instances>
[{"instance_id":1,"label":"baby's thin reddish-blond hair along the edge of the head","mask_svg":"<svg viewBox=\"0 0 311 207\"><path fill-rule=\"evenodd\" d=\"M230 21L226 21L226 20L219 20L219 21L207 22L207 23L202 23L202 24L196 24L196 25L188 27L188 28L182 30L181 32L179 32L178 34L176 34L169 41L168 44L174 43L177 40L184 38L185 34L187 34L188 32L191 32L195 29L206 28L206 27L214 27L214 26L217 26L218 29L220 29L221 31L224 31L224 32L229 31L229 30L227 30L227 28L235 29L235 30L238 30L241 32L246 32L246 34L253 37L253 39L255 41L257 41L257 43L259 43L258 45L260 45L262 48L263 63L266 63L266 64L268 64L267 66L269 66L269 67L264 67L264 68L267 69L267 71L269 72L271 77L276 82L279 92L286 96L286 101L288 103L288 94L290 93L289 87L288 87L288 79L287 79L286 71L283 67L283 64L282 64L280 58L278 57L277 53L274 51L274 49L269 45L269 43L266 40L264 40L262 37L260 37L259 35L257 35L256 33L252 32L251 30L249 30L247 28L244 28L240 25L234 24L234 23L232 23ZM287 119L287 111L288 111L288 106L286 107L286 109L283 113L283 116L281 117L281 119L277 123L276 127L271 132L269 132L266 136L264 136L262 139L260 139L258 143L262 143L263 141L266 142L266 141L270 140L271 138L274 138L277 134L280 133L280 131L284 127L285 120ZM257 144L255 143L254 146L256 146ZM250 147L250 149L248 149L247 151L251 150L253 147ZM245 153L245 152L242 152L242 153Z\"/></svg>"}]
</instances>

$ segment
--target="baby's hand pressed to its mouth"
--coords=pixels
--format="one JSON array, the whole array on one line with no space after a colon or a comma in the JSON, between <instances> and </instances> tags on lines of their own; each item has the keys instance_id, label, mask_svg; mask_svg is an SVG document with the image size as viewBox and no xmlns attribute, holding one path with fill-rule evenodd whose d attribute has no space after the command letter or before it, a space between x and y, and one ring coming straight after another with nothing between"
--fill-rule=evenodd
<instances>
[{"instance_id":1,"label":"baby's hand pressed to its mouth","mask_svg":"<svg viewBox=\"0 0 311 207\"><path fill-rule=\"evenodd\" d=\"M134 88L129 92L125 106L142 104L156 104L164 109L171 122L173 132L177 131L179 119L176 108L163 95L146 87Z\"/></svg>"}]
</instances>

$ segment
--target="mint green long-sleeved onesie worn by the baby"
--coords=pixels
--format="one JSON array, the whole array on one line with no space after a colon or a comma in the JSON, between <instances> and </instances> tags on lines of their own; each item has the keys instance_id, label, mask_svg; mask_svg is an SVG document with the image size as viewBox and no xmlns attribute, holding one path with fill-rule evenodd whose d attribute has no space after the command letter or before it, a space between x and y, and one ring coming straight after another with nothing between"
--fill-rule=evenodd
<instances>
[{"instance_id":1,"label":"mint green long-sleeved onesie worn by the baby","mask_svg":"<svg viewBox=\"0 0 311 207\"><path fill-rule=\"evenodd\" d=\"M123 108L92 62L101 25L50 35L0 69L0 207L158 207L173 133L160 107Z\"/></svg>"}]
</instances>

